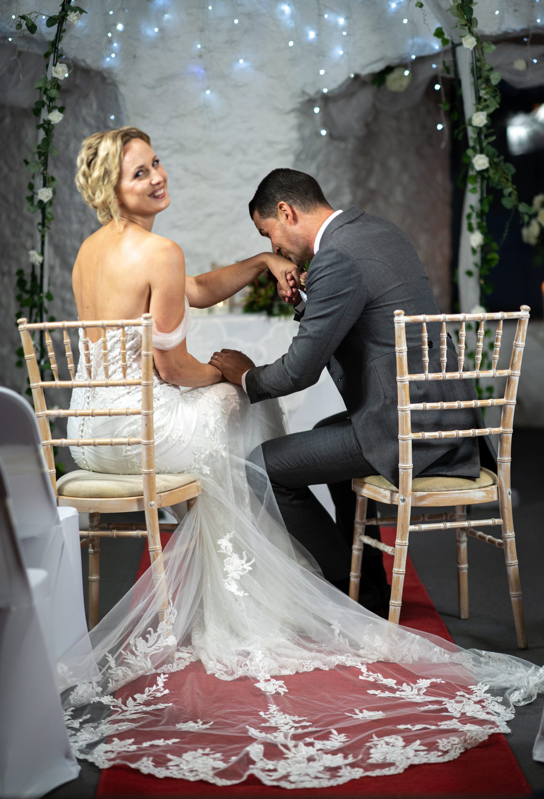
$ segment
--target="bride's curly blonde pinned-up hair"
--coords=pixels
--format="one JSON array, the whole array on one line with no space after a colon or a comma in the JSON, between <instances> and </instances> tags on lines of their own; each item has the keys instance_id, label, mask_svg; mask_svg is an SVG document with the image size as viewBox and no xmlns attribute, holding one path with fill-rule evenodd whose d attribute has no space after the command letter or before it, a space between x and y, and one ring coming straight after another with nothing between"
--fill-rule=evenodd
<instances>
[{"instance_id":1,"label":"bride's curly blonde pinned-up hair","mask_svg":"<svg viewBox=\"0 0 544 799\"><path fill-rule=\"evenodd\" d=\"M151 144L143 130L123 128L93 133L83 141L77 156L76 185L87 205L97 212L101 225L120 218L115 187L121 173L123 149L132 139Z\"/></svg>"}]
</instances>

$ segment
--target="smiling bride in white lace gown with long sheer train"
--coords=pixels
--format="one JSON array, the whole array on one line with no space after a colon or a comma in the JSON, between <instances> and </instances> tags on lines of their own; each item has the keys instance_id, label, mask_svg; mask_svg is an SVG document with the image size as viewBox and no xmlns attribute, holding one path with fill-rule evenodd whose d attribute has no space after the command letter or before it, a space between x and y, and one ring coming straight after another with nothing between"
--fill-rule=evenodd
<instances>
[{"instance_id":1,"label":"smiling bride in white lace gown with long sheer train","mask_svg":"<svg viewBox=\"0 0 544 799\"><path fill-rule=\"evenodd\" d=\"M391 625L326 582L288 535L264 469L246 461L284 434L279 403L250 406L187 352L189 305L224 300L264 268L288 291L292 264L264 254L185 276L181 249L151 233L169 197L149 137L96 133L77 163L103 225L73 269L79 316L153 314L157 471L190 471L203 487L165 547L168 618L159 621L148 570L58 665L77 757L216 785L253 774L313 788L451 760L506 732L514 706L544 688L541 670ZM110 377L121 375L119 336L109 332ZM137 331L126 347L136 376ZM132 391L76 389L72 407L127 407ZM68 435L137 437L137 425L71 417ZM113 474L141 468L136 447L74 447L73 457Z\"/></svg>"}]
</instances>

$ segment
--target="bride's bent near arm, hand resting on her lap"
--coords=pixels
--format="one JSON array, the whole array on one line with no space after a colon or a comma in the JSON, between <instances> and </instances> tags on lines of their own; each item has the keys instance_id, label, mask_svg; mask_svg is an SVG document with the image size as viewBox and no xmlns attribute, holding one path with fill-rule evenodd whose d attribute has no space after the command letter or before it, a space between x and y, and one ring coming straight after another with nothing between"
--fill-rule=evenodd
<instances>
[{"instance_id":1,"label":"bride's bent near arm, hand resting on her lap","mask_svg":"<svg viewBox=\"0 0 544 799\"><path fill-rule=\"evenodd\" d=\"M175 330L185 316L185 259L181 248L172 241L163 239L160 244L153 241L153 264L149 277L151 296L149 312L157 331L168 333ZM187 352L185 339L176 348L161 350L153 348L155 368L166 383L197 388L220 383L223 376L219 369L201 364Z\"/></svg>"}]
</instances>

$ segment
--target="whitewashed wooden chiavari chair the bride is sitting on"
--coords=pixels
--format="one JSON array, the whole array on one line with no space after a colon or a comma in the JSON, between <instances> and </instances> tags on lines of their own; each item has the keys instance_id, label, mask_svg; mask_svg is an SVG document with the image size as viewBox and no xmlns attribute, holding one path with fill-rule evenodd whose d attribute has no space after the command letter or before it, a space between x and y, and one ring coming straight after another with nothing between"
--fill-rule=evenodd
<instances>
[{"instance_id":1,"label":"whitewashed wooden chiavari chair the bride is sitting on","mask_svg":"<svg viewBox=\"0 0 544 799\"><path fill-rule=\"evenodd\" d=\"M156 475L155 442L153 439L153 320L149 313L141 319L108 321L64 321L28 324L18 320L30 388L34 400L34 411L38 419L46 467L59 506L77 508L89 514L89 530L81 530L81 546L89 547L89 629L98 622L98 586L101 538L148 539L149 556L153 570L153 583L159 592L161 621L165 618L169 598L165 590L165 567L162 559L161 531L173 531L176 524L159 524L158 508L187 502L193 507L201 487L193 475ZM126 329L141 328L141 375L127 379ZM69 329L83 330L83 353L86 380L76 380ZM91 379L91 359L88 328L101 330L101 361L105 380ZM121 373L122 378L109 379L109 352L106 330L121 328ZM62 340L68 364L69 380L60 380L58 364L50 332L62 330ZM53 380L42 380L31 332L42 332L50 360ZM141 386L141 407L103 408L89 410L48 409L45 389L59 388L108 388L114 386ZM133 416L141 415L140 438L112 439L54 439L51 436L50 419L66 416ZM77 470L63 475L57 483L53 447L116 447L141 446L141 475L112 475L101 472ZM145 512L145 529L137 523L101 523L101 513Z\"/></svg>"}]
</instances>

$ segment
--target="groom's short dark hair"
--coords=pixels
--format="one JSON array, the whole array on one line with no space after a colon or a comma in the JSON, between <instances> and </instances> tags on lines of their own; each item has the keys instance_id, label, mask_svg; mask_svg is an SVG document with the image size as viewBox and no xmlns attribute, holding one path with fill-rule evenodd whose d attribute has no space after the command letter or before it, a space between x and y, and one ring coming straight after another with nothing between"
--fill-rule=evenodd
<instances>
[{"instance_id":1,"label":"groom's short dark hair","mask_svg":"<svg viewBox=\"0 0 544 799\"><path fill-rule=\"evenodd\" d=\"M262 219L276 217L279 202L286 202L300 211L312 211L319 205L329 205L319 183L312 175L296 169L272 169L256 190L249 203L249 216L257 211Z\"/></svg>"}]
</instances>

